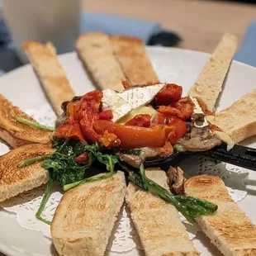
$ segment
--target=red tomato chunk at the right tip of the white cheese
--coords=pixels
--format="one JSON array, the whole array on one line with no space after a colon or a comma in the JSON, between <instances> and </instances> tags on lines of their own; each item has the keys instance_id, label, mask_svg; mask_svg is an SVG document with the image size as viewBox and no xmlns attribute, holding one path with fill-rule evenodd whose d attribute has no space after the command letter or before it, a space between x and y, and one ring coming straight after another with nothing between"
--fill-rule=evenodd
<instances>
[{"instance_id":1,"label":"red tomato chunk at the right tip of the white cheese","mask_svg":"<svg viewBox=\"0 0 256 256\"><path fill-rule=\"evenodd\" d=\"M156 95L157 105L170 105L178 102L182 97L183 88L175 83L167 83L164 88Z\"/></svg>"}]
</instances>

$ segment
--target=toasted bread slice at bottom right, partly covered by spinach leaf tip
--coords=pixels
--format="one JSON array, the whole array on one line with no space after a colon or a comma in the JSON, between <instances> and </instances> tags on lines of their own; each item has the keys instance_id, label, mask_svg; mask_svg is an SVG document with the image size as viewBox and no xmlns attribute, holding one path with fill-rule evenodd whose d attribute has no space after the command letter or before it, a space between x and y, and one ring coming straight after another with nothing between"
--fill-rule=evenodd
<instances>
[{"instance_id":1,"label":"toasted bread slice at bottom right, partly covered by spinach leaf tip","mask_svg":"<svg viewBox=\"0 0 256 256\"><path fill-rule=\"evenodd\" d=\"M185 193L218 206L213 215L197 218L197 223L222 254L256 255L256 226L231 199L221 178L206 174L189 178Z\"/></svg>"}]
</instances>

